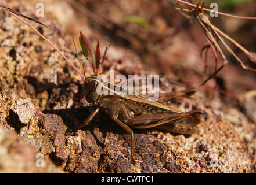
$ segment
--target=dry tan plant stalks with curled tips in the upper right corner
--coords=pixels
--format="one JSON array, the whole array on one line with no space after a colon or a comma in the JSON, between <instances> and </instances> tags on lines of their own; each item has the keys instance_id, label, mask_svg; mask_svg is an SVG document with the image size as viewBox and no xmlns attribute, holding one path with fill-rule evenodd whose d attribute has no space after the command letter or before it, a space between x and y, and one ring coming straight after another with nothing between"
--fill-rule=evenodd
<instances>
[{"instance_id":1,"label":"dry tan plant stalks with curled tips in the upper right corner","mask_svg":"<svg viewBox=\"0 0 256 185\"><path fill-rule=\"evenodd\" d=\"M186 6L188 6L189 9L184 9L184 8L179 7L177 4L178 2L184 3ZM203 31L204 31L207 41L209 43L209 45L204 46L201 51L203 51L204 49L207 49L207 51L208 51L208 48L211 47L212 52L214 53L215 65L216 65L215 72L212 75L210 75L206 80L204 80L202 85L205 84L206 82L208 82L208 80L212 79L212 77L215 77L217 75L217 73L220 72L226 64L228 64L228 60L226 59L225 54L223 53L221 47L219 46L218 41L220 41L222 43L222 45L229 51L229 53L232 54L232 56L236 58L236 60L239 62L239 64L241 65L241 67L243 69L256 72L256 69L245 65L243 63L243 61L241 61L241 59L233 52L233 50L228 46L228 44L225 42L225 40L223 38L225 38L230 43L232 43L237 48L239 48L241 51L243 51L243 53L246 54L246 56L250 59L250 61L252 61L252 62L254 62L254 64L256 64L256 58L254 56L254 53L246 50L243 46L241 46L235 40L233 40L228 35L226 35L224 32L222 32L220 29L218 29L217 27L215 27L214 25L211 24L209 17L207 16L207 14L204 13L204 10L207 10L207 11L211 11L211 10L203 8L204 2L202 4L199 2L199 3L197 3L197 5L194 5L192 0L189 0L189 2L182 1L182 0L172 0L172 3L174 4L176 10L181 12L181 14L183 16L185 16L187 18L191 18L193 16L196 18L196 20L200 24L201 28L203 28ZM221 13L221 12L217 12L217 13L225 15L225 16L235 17L235 18L256 20L255 17L240 17L240 16L231 16L230 14ZM219 54L221 54L221 57L223 60L223 64L221 66L219 66L219 68L217 68L217 60L218 60L217 52L219 52ZM207 57L207 53L205 55L205 58L206 57ZM205 61L206 61L206 59L205 59ZM205 66L205 70L206 70L206 67L207 66Z\"/></svg>"}]
</instances>

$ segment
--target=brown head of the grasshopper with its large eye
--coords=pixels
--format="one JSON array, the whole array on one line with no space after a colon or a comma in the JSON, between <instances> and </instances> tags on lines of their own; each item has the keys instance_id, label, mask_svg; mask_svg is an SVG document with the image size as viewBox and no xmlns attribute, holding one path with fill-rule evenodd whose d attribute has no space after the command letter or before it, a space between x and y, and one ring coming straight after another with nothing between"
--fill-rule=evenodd
<instances>
[{"instance_id":1,"label":"brown head of the grasshopper with its large eye","mask_svg":"<svg viewBox=\"0 0 256 185\"><path fill-rule=\"evenodd\" d=\"M98 101L103 92L103 80L95 75L86 78L84 82L84 97L88 103Z\"/></svg>"}]
</instances>

